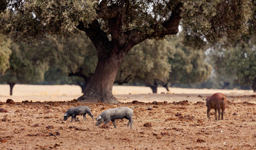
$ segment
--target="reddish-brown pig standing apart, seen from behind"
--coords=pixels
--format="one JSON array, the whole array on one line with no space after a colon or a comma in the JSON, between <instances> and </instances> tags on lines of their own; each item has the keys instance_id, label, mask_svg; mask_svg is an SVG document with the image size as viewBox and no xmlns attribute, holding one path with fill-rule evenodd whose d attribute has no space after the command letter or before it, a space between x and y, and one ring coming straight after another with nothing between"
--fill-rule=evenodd
<instances>
[{"instance_id":1,"label":"reddish-brown pig standing apart, seen from behind","mask_svg":"<svg viewBox=\"0 0 256 150\"><path fill-rule=\"evenodd\" d=\"M219 120L220 109L221 109L221 120L223 120L223 113L226 108L226 96L220 92L216 92L213 95L205 98L205 100L206 100L206 106L207 106L207 117L210 119L209 111L212 108L212 109L215 109L215 119L217 119L217 110L218 110L218 120Z\"/></svg>"}]
</instances>

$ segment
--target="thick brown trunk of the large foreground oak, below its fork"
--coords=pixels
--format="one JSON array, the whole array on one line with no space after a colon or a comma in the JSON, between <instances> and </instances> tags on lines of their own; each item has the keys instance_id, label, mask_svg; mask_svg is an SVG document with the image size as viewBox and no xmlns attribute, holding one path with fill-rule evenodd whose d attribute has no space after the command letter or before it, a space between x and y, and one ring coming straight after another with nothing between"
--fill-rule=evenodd
<instances>
[{"instance_id":1,"label":"thick brown trunk of the large foreground oak, below its fork","mask_svg":"<svg viewBox=\"0 0 256 150\"><path fill-rule=\"evenodd\" d=\"M123 57L124 54L114 52L109 57L99 57L95 72L77 101L119 103L113 96L112 87Z\"/></svg>"}]
</instances>

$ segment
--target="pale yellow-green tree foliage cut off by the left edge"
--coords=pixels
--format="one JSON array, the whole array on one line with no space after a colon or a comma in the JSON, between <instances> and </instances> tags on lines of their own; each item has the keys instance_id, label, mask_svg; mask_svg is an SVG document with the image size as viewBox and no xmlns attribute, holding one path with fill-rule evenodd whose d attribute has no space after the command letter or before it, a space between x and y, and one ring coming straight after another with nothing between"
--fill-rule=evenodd
<instances>
[{"instance_id":1,"label":"pale yellow-green tree foliage cut off by the left edge","mask_svg":"<svg viewBox=\"0 0 256 150\"><path fill-rule=\"evenodd\" d=\"M4 73L9 67L9 58L12 53L11 40L5 40L0 34L0 74Z\"/></svg>"}]
</instances>

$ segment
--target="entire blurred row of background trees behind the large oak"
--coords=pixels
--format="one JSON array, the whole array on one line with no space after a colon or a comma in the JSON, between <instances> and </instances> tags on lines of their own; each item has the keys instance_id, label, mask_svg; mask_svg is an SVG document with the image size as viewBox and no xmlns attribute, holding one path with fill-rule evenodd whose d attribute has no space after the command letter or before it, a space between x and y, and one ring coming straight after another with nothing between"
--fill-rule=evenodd
<instances>
[{"instance_id":1,"label":"entire blurred row of background trees behind the large oak","mask_svg":"<svg viewBox=\"0 0 256 150\"><path fill-rule=\"evenodd\" d=\"M67 39L49 35L34 44L1 37L0 81L10 85L11 95L17 83L77 84L85 92L97 65L97 51L83 32ZM205 52L205 47L188 46L186 41L180 32L134 46L123 59L115 84L146 85L153 93L158 86L168 91L169 86L254 90L253 48L215 46Z\"/></svg>"}]
</instances>

